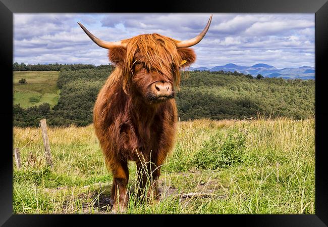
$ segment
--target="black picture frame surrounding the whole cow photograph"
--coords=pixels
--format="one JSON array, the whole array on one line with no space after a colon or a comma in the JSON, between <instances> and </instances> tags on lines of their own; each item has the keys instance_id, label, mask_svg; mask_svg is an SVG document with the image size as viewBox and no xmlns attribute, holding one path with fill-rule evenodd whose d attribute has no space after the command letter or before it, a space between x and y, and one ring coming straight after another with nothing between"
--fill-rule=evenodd
<instances>
[{"instance_id":1,"label":"black picture frame surrounding the whole cow photograph","mask_svg":"<svg viewBox=\"0 0 328 227\"><path fill-rule=\"evenodd\" d=\"M88 1L88 0L0 0L0 62L2 65L2 98L3 107L0 108L2 117L2 141L6 146L2 149L0 174L0 225L2 226L65 226L65 225L99 225L115 224L126 220L133 223L160 223L172 224L171 216L167 215L22 215L13 214L13 166L12 148L13 130L10 120L13 117L12 64L13 64L13 13L147 13L147 12L173 12L173 13L315 13L315 214L270 214L270 215L172 215L184 221L200 221L200 223L227 224L237 226L327 226L328 225L328 169L325 159L325 129L328 111L325 110L326 78L324 74L325 59L328 54L328 2L326 0L226 0L226 1L165 1L130 2L122 1ZM6 98L5 98L6 97ZM8 148L8 147L9 148ZM120 220L119 220L120 219ZM140 222L140 220L144 221ZM139 222L137 222L139 220ZM123 221L123 222L122 222ZM148 222L154 221L154 222ZM170 221L170 222L169 222ZM238 224L239 223L239 224ZM185 223L184 223L185 224Z\"/></svg>"}]
</instances>

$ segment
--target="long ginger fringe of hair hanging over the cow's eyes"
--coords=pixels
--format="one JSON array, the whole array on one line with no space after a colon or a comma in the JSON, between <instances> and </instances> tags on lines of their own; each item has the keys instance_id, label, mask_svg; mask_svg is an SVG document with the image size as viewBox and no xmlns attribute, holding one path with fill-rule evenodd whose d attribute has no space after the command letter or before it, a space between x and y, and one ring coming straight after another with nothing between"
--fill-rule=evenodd
<instances>
[{"instance_id":1,"label":"long ginger fringe of hair hanging over the cow's eyes","mask_svg":"<svg viewBox=\"0 0 328 227\"><path fill-rule=\"evenodd\" d=\"M129 83L133 77L133 64L136 52L142 56L141 61L144 62L148 70L155 70L159 73L169 75L173 73L176 86L180 84L180 64L181 56L177 52L176 42L170 37L166 37L157 33L138 35L129 39L122 40L127 42L127 57L124 66L117 67L113 76L115 80L121 79L125 93L128 93ZM120 69L121 68L121 69Z\"/></svg>"}]
</instances>

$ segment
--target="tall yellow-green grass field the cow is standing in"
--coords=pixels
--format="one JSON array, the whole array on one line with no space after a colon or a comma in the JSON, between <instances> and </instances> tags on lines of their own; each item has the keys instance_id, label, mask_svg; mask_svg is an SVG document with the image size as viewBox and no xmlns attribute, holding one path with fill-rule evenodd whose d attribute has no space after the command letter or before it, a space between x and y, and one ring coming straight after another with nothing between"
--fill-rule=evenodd
<instances>
[{"instance_id":1,"label":"tall yellow-green grass field the cow is standing in","mask_svg":"<svg viewBox=\"0 0 328 227\"><path fill-rule=\"evenodd\" d=\"M161 200L138 202L131 162L126 213L314 214L314 128L314 118L181 122ZM92 125L48 128L52 169L39 128L13 133L22 159L20 170L13 161L14 213L110 213L112 175Z\"/></svg>"}]
</instances>

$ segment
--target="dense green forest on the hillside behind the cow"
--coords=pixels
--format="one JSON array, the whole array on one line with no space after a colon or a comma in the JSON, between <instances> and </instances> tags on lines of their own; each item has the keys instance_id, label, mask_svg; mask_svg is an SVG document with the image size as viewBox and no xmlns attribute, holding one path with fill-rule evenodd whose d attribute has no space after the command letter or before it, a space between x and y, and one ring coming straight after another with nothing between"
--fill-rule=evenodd
<instances>
[{"instance_id":1,"label":"dense green forest on the hillside behind the cow","mask_svg":"<svg viewBox=\"0 0 328 227\"><path fill-rule=\"evenodd\" d=\"M92 109L99 89L112 67L65 70L57 82L61 89L58 104L27 109L15 105L15 126L37 126L47 118L48 125L84 126L92 123ZM238 72L190 71L183 73L176 96L181 120L197 118L256 118L257 112L293 119L312 117L315 110L314 80L253 77Z\"/></svg>"}]
</instances>

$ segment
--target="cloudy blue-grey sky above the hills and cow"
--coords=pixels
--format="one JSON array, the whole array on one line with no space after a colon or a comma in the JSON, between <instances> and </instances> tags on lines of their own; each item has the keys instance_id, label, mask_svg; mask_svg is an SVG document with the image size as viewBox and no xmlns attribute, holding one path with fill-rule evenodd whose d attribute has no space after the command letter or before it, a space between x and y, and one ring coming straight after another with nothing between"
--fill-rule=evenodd
<instances>
[{"instance_id":1,"label":"cloudy blue-grey sky above the hills and cow","mask_svg":"<svg viewBox=\"0 0 328 227\"><path fill-rule=\"evenodd\" d=\"M210 14L14 14L14 59L26 64L108 64L107 50L80 28L100 39L117 41L143 33L190 39ZM315 14L213 14L210 28L193 49L193 67L257 63L314 67Z\"/></svg>"}]
</instances>

